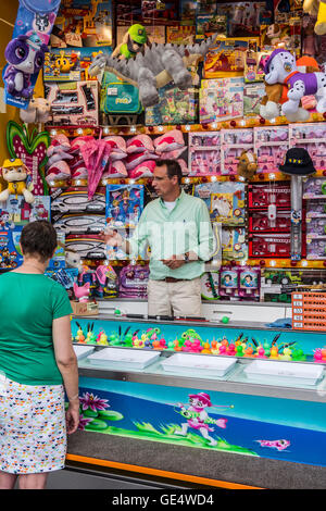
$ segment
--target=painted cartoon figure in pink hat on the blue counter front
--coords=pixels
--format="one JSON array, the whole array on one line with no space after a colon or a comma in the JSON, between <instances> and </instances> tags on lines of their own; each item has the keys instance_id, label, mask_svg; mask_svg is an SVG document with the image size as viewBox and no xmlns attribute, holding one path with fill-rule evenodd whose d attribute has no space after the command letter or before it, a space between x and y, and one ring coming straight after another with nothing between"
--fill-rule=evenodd
<instances>
[{"instance_id":1,"label":"painted cartoon figure in pink hat on the blue counter front","mask_svg":"<svg viewBox=\"0 0 326 511\"><path fill-rule=\"evenodd\" d=\"M199 429L202 437L205 440L209 440L210 446L216 446L217 440L210 436L209 432L213 432L214 427L210 427L210 424L215 424L218 427L226 427L227 419L211 419L206 412L208 407L212 407L211 398L205 392L190 394L189 395L189 406L186 408L183 403L177 404L179 410L176 410L177 413L180 413L187 422L181 424L181 429L175 429L175 435L186 436L188 427L192 429Z\"/></svg>"}]
</instances>

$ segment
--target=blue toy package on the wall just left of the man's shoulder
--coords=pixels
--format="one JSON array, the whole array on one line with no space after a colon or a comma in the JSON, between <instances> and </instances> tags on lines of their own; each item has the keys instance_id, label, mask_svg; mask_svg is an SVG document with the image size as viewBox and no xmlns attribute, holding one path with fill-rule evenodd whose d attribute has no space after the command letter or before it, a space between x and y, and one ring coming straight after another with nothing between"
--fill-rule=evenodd
<instances>
[{"instance_id":1,"label":"blue toy package on the wall just left of the man's shoulder","mask_svg":"<svg viewBox=\"0 0 326 511\"><path fill-rule=\"evenodd\" d=\"M133 228L138 224L143 210L141 185L106 186L106 223L112 227Z\"/></svg>"}]
</instances>

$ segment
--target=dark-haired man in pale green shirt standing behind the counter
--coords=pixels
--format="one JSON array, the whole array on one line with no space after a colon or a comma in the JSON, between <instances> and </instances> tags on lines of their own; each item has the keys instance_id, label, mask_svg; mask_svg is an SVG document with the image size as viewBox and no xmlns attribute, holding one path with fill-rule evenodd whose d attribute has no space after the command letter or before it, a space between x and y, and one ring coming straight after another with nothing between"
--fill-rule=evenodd
<instances>
[{"instance_id":1,"label":"dark-haired man in pale green shirt standing behind the counter","mask_svg":"<svg viewBox=\"0 0 326 511\"><path fill-rule=\"evenodd\" d=\"M159 196L145 208L129 240L109 229L104 241L137 258L150 247L148 313L200 316L204 261L214 252L214 235L206 204L181 189L181 169L173 160L158 160L153 188Z\"/></svg>"}]
</instances>

